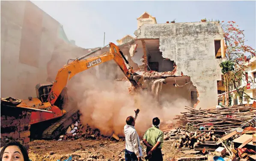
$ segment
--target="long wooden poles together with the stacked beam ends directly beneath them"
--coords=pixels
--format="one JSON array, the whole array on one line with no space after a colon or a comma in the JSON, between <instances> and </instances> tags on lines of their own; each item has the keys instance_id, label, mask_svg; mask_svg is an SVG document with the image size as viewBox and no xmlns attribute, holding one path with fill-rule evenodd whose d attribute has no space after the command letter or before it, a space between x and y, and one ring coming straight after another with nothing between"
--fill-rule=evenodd
<instances>
[{"instance_id":1,"label":"long wooden poles together with the stacked beam ends directly beneath them","mask_svg":"<svg viewBox=\"0 0 256 161\"><path fill-rule=\"evenodd\" d=\"M242 126L255 126L256 108L253 106L231 106L224 108L194 109L176 115L180 125L186 125L184 135L179 136L175 146L180 149L215 151L222 143L238 138ZM192 128L188 128L192 126ZM227 144L227 143L226 143ZM229 144L231 146L231 144Z\"/></svg>"}]
</instances>

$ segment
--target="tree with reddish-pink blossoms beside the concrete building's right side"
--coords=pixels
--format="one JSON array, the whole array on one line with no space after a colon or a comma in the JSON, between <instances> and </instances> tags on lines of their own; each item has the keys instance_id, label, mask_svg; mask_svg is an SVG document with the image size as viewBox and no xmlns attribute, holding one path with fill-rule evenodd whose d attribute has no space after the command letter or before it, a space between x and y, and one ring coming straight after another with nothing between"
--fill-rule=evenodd
<instances>
[{"instance_id":1,"label":"tree with reddish-pink blossoms beside the concrete building's right side","mask_svg":"<svg viewBox=\"0 0 256 161\"><path fill-rule=\"evenodd\" d=\"M223 73L223 83L225 85L226 106L231 104L229 100L229 90L234 85L238 93L240 104L243 100L244 88L240 87L240 82L246 77L245 70L250 66L249 59L245 53L252 53L255 56L255 49L245 45L244 30L238 28L235 21L220 23L223 29L223 36L226 42L226 61L220 63Z\"/></svg>"}]
</instances>

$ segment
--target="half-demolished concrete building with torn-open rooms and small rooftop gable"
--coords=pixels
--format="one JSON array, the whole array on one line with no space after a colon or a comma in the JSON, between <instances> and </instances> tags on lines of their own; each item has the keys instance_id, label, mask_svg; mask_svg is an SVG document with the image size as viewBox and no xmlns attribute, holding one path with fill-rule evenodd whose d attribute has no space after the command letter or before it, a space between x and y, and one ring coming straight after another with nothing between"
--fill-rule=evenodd
<instances>
[{"instance_id":1,"label":"half-demolished concrete building with torn-open rooms and small rooftop gable","mask_svg":"<svg viewBox=\"0 0 256 161\"><path fill-rule=\"evenodd\" d=\"M137 18L137 26L132 43L137 46L135 51L123 53L134 63L134 69L140 67L137 71L149 84L165 79L160 98L183 98L189 106L197 103L197 108L217 105L219 64L225 58L223 30L217 22L157 24L145 12Z\"/></svg>"}]
</instances>

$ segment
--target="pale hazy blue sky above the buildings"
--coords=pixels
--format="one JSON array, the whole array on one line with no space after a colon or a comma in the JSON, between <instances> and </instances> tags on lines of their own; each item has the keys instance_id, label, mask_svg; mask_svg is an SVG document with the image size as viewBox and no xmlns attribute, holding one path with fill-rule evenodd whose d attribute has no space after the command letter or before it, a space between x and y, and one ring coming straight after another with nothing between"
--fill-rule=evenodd
<instances>
[{"instance_id":1,"label":"pale hazy blue sky above the buildings","mask_svg":"<svg viewBox=\"0 0 256 161\"><path fill-rule=\"evenodd\" d=\"M116 43L137 29L137 18L147 11L157 23L197 22L203 18L236 21L247 45L256 48L256 1L32 1L59 21L68 39L83 48Z\"/></svg>"}]
</instances>

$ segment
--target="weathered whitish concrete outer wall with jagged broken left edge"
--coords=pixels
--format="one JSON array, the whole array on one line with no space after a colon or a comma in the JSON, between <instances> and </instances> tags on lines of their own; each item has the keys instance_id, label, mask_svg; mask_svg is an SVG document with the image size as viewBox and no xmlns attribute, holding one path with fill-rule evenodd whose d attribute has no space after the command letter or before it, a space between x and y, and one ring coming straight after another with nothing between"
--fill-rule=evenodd
<instances>
[{"instance_id":1,"label":"weathered whitish concrete outer wall with jagged broken left edge","mask_svg":"<svg viewBox=\"0 0 256 161\"><path fill-rule=\"evenodd\" d=\"M217 105L217 80L222 59L215 59L214 40L223 39L217 22L144 24L137 39L160 39L164 58L176 62L176 76L190 76L199 92L197 108Z\"/></svg>"}]
</instances>

